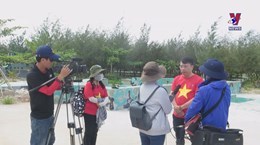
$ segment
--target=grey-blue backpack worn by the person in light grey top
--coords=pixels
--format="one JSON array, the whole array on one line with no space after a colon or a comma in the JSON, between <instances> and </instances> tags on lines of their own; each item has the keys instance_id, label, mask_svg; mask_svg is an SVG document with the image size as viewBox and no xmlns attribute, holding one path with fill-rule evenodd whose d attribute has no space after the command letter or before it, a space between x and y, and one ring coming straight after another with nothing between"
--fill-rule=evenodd
<instances>
[{"instance_id":1,"label":"grey-blue backpack worn by the person in light grey top","mask_svg":"<svg viewBox=\"0 0 260 145\"><path fill-rule=\"evenodd\" d=\"M150 114L146 110L145 104L150 100L150 98L153 96L153 94L156 92L156 90L160 88L158 86L148 97L148 99L144 103L140 103L139 99L140 97L138 96L138 100L131 103L129 107L129 113L130 113L130 119L131 119L131 124L133 127L136 127L138 129L142 130L149 130L152 127L153 120L156 117L156 115L159 113L161 108L156 112L154 116L150 116Z\"/></svg>"}]
</instances>

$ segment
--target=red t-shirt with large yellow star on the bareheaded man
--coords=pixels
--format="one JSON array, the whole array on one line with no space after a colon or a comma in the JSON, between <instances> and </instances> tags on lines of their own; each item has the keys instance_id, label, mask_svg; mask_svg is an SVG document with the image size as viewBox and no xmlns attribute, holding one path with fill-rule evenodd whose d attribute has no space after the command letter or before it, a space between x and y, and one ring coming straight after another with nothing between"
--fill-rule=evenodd
<instances>
[{"instance_id":1,"label":"red t-shirt with large yellow star on the bareheaded man","mask_svg":"<svg viewBox=\"0 0 260 145\"><path fill-rule=\"evenodd\" d=\"M172 88L171 90L174 91L175 87L178 85L181 85L179 91L177 92L175 96L175 102L176 104L183 105L184 103L188 102L189 100L193 99L195 96L195 93L198 90L198 85L203 82L203 79L194 74L193 76L186 78L184 75L178 75L174 78L172 82ZM187 109L183 110L184 114L186 114ZM174 111L173 114L176 117L183 118L184 116L178 116L177 113Z\"/></svg>"}]
</instances>

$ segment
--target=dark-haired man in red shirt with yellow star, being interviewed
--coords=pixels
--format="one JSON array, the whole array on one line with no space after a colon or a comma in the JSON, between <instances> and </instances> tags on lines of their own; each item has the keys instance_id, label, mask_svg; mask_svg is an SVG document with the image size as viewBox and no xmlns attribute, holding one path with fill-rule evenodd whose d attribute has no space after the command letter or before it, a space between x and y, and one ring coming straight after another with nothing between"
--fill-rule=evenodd
<instances>
[{"instance_id":1,"label":"dark-haired man in red shirt with yellow star, being interviewed","mask_svg":"<svg viewBox=\"0 0 260 145\"><path fill-rule=\"evenodd\" d=\"M183 57L180 62L181 74L173 79L171 93L174 96L172 104L173 111L173 127L176 136L176 145L184 145L184 116L191 104L198 85L203 79L192 72L194 68L194 60L191 57Z\"/></svg>"}]
</instances>

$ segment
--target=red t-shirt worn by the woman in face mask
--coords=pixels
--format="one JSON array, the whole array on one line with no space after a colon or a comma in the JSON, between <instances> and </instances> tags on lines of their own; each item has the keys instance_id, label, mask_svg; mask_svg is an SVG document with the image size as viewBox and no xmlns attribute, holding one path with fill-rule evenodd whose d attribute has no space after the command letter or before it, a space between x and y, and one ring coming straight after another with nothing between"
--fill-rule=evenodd
<instances>
[{"instance_id":1,"label":"red t-shirt worn by the woman in face mask","mask_svg":"<svg viewBox=\"0 0 260 145\"><path fill-rule=\"evenodd\" d=\"M102 88L100 85L97 85L92 89L91 82L87 82L84 88L84 97L87 99L84 113L90 115L96 115L98 105L96 103L90 102L88 99L90 97L98 97L105 98L108 96L106 88Z\"/></svg>"}]
</instances>

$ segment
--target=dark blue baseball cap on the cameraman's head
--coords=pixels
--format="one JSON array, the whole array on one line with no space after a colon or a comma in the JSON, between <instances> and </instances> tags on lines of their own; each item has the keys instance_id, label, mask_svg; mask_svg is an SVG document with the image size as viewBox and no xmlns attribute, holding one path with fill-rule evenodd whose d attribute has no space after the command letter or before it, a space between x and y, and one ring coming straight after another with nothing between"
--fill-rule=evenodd
<instances>
[{"instance_id":1,"label":"dark blue baseball cap on the cameraman's head","mask_svg":"<svg viewBox=\"0 0 260 145\"><path fill-rule=\"evenodd\" d=\"M60 56L54 54L48 45L39 46L36 50L36 57L47 57L52 61L59 61Z\"/></svg>"}]
</instances>

